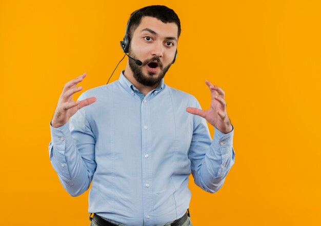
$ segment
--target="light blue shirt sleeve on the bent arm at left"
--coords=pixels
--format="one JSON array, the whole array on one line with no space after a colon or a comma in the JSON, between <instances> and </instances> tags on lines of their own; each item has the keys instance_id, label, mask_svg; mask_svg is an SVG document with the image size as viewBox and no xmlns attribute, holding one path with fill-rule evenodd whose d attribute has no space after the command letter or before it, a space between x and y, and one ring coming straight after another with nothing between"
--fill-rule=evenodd
<instances>
[{"instance_id":1,"label":"light blue shirt sleeve on the bent arm at left","mask_svg":"<svg viewBox=\"0 0 321 226\"><path fill-rule=\"evenodd\" d=\"M50 124L50 162L71 196L88 190L96 169L95 137L81 110L62 127L53 128Z\"/></svg>"}]
</instances>

